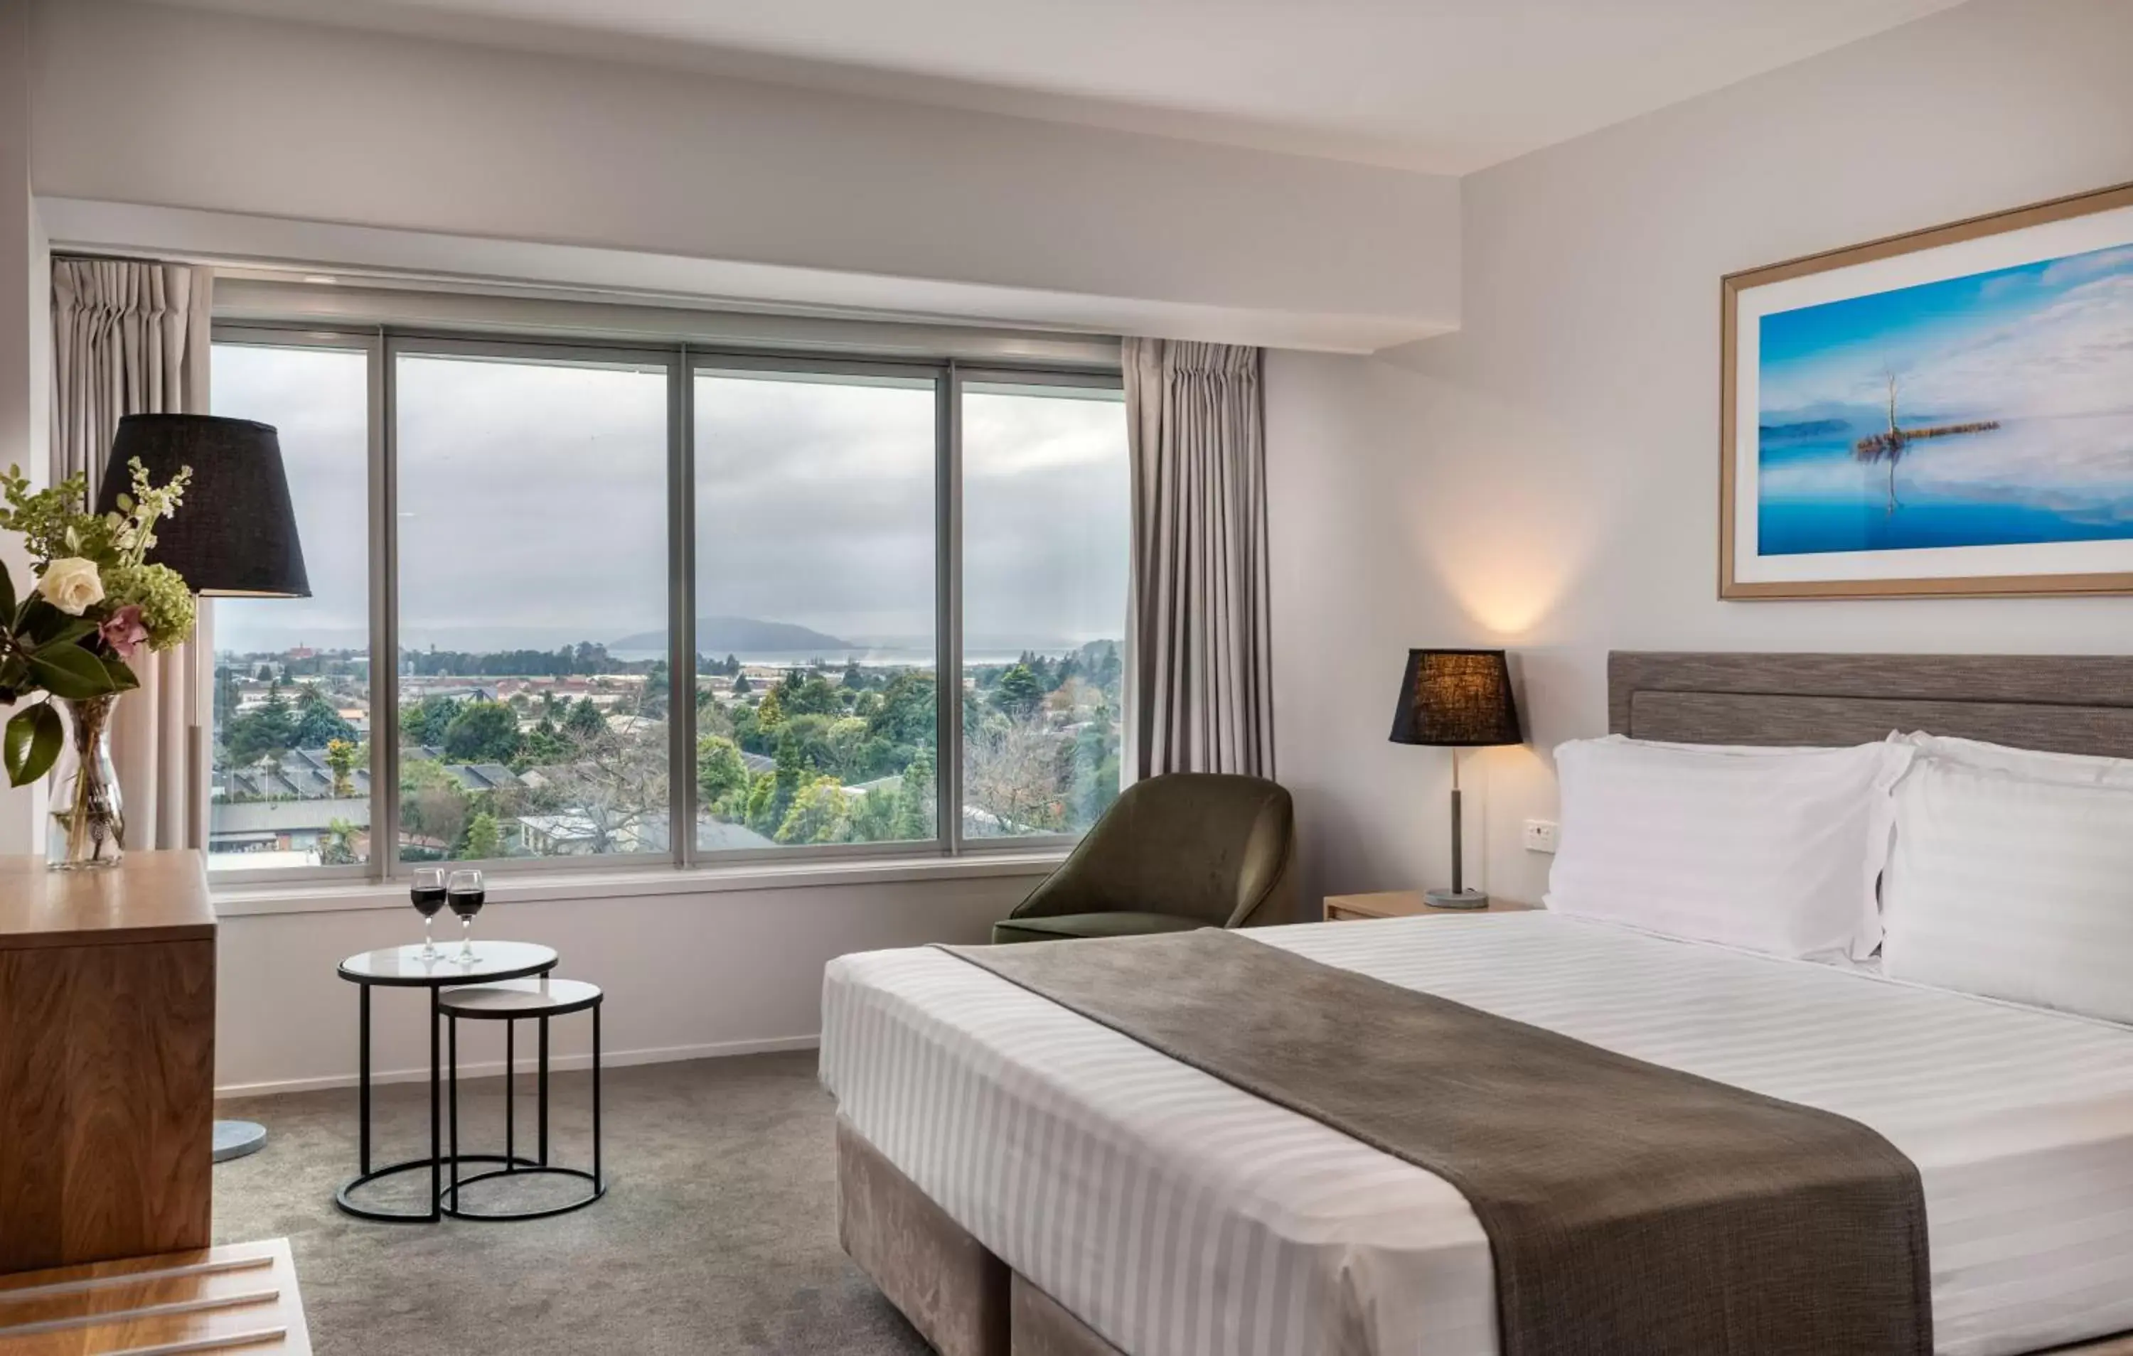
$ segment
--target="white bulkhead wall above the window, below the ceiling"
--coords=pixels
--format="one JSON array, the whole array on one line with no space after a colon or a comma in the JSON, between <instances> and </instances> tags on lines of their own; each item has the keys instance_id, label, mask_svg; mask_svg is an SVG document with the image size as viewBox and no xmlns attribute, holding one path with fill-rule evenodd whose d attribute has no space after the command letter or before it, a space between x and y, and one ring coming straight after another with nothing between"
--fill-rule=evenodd
<instances>
[{"instance_id":1,"label":"white bulkhead wall above the window, below the ceiling","mask_svg":"<svg viewBox=\"0 0 2133 1356\"><path fill-rule=\"evenodd\" d=\"M1457 322L1448 177L119 0L38 2L34 90L41 196Z\"/></svg>"}]
</instances>

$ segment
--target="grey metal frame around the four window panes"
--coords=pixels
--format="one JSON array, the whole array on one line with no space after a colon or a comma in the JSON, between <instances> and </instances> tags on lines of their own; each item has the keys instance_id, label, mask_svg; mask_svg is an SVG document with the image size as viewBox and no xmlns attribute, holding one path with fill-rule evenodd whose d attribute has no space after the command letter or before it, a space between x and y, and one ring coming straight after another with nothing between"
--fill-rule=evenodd
<instances>
[{"instance_id":1,"label":"grey metal frame around the four window panes","mask_svg":"<svg viewBox=\"0 0 2133 1356\"><path fill-rule=\"evenodd\" d=\"M1124 390L1116 365L956 358L883 358L870 354L783 352L725 343L604 339L587 335L523 335L437 330L392 324L303 324L218 320L213 343L250 348L324 348L363 352L369 369L369 644L371 644L371 853L352 866L211 870L220 887L407 878L416 861L399 855L401 674L399 674L399 431L397 369L401 356L474 356L663 367L668 384L668 851L563 857L493 857L454 861L484 872L525 876L584 870L700 870L706 866L928 861L1013 853L1054 853L1081 834L968 836L962 825L962 399L964 384L1075 386ZM695 842L695 375L700 371L766 371L804 375L915 377L934 388L934 836L911 842L828 842L768 849L702 851ZM203 599L205 601L205 599ZM386 667L380 669L380 657ZM1120 659L1133 674L1130 635ZM203 665L213 672L213 646ZM211 689L203 689L211 691ZM213 731L209 731L209 742ZM205 778L211 761L203 759ZM205 817L211 827L211 806ZM205 846L205 844L203 844Z\"/></svg>"}]
</instances>

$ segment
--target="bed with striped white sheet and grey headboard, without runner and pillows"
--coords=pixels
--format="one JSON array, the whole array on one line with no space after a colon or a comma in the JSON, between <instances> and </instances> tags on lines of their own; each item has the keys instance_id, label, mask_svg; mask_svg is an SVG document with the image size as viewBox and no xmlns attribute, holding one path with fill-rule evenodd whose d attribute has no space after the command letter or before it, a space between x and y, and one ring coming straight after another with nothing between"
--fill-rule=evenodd
<instances>
[{"instance_id":1,"label":"bed with striped white sheet and grey headboard, without runner and pillows","mask_svg":"<svg viewBox=\"0 0 2133 1356\"><path fill-rule=\"evenodd\" d=\"M2124 659L1615 655L1608 695L1636 738L2133 755ZM1858 1119L1918 1164L1937 1350L2133 1352L2122 1026L1546 913L1254 940ZM823 1081L847 1249L949 1356L1497 1350L1446 1181L953 955L832 964Z\"/></svg>"}]
</instances>

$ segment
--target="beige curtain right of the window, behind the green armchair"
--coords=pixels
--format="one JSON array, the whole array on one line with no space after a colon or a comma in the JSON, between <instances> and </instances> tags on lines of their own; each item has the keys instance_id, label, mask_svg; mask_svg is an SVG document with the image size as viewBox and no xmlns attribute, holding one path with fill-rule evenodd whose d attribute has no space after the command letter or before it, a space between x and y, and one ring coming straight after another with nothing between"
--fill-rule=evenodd
<instances>
[{"instance_id":1,"label":"beige curtain right of the window, behind the green armchair","mask_svg":"<svg viewBox=\"0 0 2133 1356\"><path fill-rule=\"evenodd\" d=\"M1273 776L1261 350L1126 339L1128 772Z\"/></svg>"}]
</instances>

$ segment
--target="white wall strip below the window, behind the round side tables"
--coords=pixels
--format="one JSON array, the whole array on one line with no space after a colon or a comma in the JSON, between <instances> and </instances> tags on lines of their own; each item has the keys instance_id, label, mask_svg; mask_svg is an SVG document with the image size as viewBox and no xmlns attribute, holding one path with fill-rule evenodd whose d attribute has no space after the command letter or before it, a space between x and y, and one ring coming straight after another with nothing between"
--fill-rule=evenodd
<instances>
[{"instance_id":1,"label":"white wall strip below the window, behind the round side tables","mask_svg":"<svg viewBox=\"0 0 2133 1356\"><path fill-rule=\"evenodd\" d=\"M1003 870L1011 874L651 895L550 887L531 891L548 898L520 900L491 876L491 904L474 936L476 949L480 938L544 942L561 955L559 976L597 983L608 996L604 1058L614 1064L796 1049L813 1045L821 1028L821 968L832 957L983 942L1041 868ZM335 979L335 966L358 951L422 940L420 917L405 893L384 908L360 900L318 913L241 908L226 904L220 925L215 1085L224 1094L352 1085L356 987ZM456 919L437 919L439 942L456 932ZM373 1070L427 1077L427 996L373 994ZM471 1028L461 1028L461 1068L501 1070L503 1036ZM559 1066L578 1066L589 1026L557 1023L555 1040Z\"/></svg>"}]
</instances>

